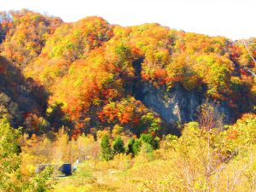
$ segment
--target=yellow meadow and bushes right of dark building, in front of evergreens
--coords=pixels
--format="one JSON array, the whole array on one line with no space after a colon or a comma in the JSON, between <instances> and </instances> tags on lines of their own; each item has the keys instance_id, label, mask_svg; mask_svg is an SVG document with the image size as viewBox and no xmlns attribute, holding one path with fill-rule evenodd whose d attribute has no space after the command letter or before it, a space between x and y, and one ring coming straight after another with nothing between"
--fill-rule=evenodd
<instances>
[{"instance_id":1,"label":"yellow meadow and bushes right of dark building, in front of evergreens","mask_svg":"<svg viewBox=\"0 0 256 192\"><path fill-rule=\"evenodd\" d=\"M141 148L131 158L86 160L52 191L255 191L256 119L247 114L228 130L185 125L182 137L167 136L160 148Z\"/></svg>"}]
</instances>

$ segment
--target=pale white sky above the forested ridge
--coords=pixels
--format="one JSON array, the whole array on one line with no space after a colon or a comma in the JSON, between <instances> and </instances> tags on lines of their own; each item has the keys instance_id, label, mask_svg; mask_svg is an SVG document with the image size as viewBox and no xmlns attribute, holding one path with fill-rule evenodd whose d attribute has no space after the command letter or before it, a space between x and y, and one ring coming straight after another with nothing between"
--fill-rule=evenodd
<instances>
[{"instance_id":1,"label":"pale white sky above the forested ridge","mask_svg":"<svg viewBox=\"0 0 256 192\"><path fill-rule=\"evenodd\" d=\"M256 37L256 0L0 0L0 10L23 8L64 21L97 15L121 26L157 22L234 40Z\"/></svg>"}]
</instances>

